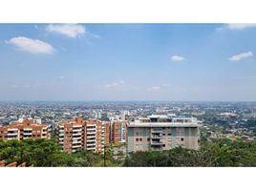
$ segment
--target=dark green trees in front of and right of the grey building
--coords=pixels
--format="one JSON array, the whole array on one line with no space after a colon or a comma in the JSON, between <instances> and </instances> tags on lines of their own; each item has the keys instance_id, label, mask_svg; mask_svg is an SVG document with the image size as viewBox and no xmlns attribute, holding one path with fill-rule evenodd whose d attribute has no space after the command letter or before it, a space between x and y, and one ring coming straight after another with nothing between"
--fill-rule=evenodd
<instances>
[{"instance_id":1,"label":"dark green trees in front of and right of the grey building","mask_svg":"<svg viewBox=\"0 0 256 191\"><path fill-rule=\"evenodd\" d=\"M124 166L256 166L256 141L213 139L200 150L181 147L162 152L137 152Z\"/></svg>"}]
</instances>

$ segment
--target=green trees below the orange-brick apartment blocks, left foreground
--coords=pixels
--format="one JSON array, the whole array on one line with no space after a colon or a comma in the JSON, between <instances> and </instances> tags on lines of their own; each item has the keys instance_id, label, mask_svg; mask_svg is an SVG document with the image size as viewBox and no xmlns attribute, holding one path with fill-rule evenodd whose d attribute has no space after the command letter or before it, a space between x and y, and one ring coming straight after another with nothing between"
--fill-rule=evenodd
<instances>
[{"instance_id":1,"label":"green trees below the orange-brick apartment blocks, left foreground","mask_svg":"<svg viewBox=\"0 0 256 191\"><path fill-rule=\"evenodd\" d=\"M7 163L26 162L34 166L103 166L104 156L90 151L78 151L73 154L64 153L54 140L26 139L0 141L0 160ZM106 151L106 166L120 165L113 159L111 150Z\"/></svg>"}]
</instances>

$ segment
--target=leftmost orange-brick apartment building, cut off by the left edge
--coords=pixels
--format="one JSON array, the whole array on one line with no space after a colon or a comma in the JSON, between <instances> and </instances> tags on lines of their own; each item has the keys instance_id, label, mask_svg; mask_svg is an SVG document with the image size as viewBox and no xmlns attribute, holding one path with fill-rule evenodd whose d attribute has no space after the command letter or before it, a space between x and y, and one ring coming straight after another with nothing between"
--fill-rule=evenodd
<instances>
[{"instance_id":1,"label":"leftmost orange-brick apartment building, cut off by the left edge","mask_svg":"<svg viewBox=\"0 0 256 191\"><path fill-rule=\"evenodd\" d=\"M20 118L8 126L0 126L0 139L50 138L50 125L38 123L32 118Z\"/></svg>"}]
</instances>

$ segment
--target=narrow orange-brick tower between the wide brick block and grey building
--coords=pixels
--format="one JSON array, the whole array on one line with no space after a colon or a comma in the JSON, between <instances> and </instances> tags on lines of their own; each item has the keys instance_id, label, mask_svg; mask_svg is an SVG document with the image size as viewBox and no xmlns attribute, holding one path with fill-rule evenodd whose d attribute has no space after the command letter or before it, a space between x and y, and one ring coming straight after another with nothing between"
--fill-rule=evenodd
<instances>
[{"instance_id":1,"label":"narrow orange-brick tower between the wide brick block and grey building","mask_svg":"<svg viewBox=\"0 0 256 191\"><path fill-rule=\"evenodd\" d=\"M126 120L114 120L111 122L111 140L114 144L126 142L127 126L128 122Z\"/></svg>"}]
</instances>

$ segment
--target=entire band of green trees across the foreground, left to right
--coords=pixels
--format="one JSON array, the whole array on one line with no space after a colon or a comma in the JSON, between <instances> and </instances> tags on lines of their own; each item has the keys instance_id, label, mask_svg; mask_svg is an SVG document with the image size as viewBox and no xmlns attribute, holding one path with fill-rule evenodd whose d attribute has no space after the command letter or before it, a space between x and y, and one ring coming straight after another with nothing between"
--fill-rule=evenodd
<instances>
[{"instance_id":1,"label":"entire band of green trees across the foreground, left to right","mask_svg":"<svg viewBox=\"0 0 256 191\"><path fill-rule=\"evenodd\" d=\"M104 156L90 151L64 153L54 140L0 141L0 160L34 166L104 166ZM181 147L162 152L137 152L121 161L106 150L106 166L256 166L256 141L212 139L200 150Z\"/></svg>"}]
</instances>

